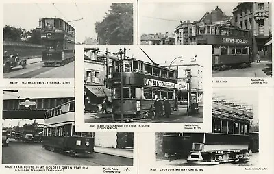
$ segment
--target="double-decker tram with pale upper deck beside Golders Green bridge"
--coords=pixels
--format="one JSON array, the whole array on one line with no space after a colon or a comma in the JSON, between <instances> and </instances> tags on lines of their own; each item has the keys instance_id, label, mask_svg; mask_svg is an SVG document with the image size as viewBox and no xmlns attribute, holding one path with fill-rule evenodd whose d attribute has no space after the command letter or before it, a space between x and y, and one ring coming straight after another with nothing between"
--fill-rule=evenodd
<instances>
[{"instance_id":1,"label":"double-decker tram with pale upper deck beside Golders Green bridge","mask_svg":"<svg viewBox=\"0 0 274 174\"><path fill-rule=\"evenodd\" d=\"M75 132L75 101L69 101L45 112L42 147L70 156L95 158L92 132Z\"/></svg>"}]
</instances>

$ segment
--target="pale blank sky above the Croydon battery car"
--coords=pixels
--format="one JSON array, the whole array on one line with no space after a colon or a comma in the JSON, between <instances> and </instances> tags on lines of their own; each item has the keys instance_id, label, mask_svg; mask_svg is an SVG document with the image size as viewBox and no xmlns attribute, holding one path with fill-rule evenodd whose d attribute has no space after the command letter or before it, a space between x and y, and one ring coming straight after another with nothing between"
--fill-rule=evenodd
<instances>
[{"instance_id":1,"label":"pale blank sky above the Croydon battery car","mask_svg":"<svg viewBox=\"0 0 274 174\"><path fill-rule=\"evenodd\" d=\"M258 90L247 90L247 89L232 89L232 90L219 90L219 88L213 88L213 95L219 96L220 99L227 99L228 101L235 101L239 105L253 105L249 108L253 108L253 123L258 121ZM232 103L233 103L232 101ZM242 103L242 104L240 104Z\"/></svg>"}]
</instances>

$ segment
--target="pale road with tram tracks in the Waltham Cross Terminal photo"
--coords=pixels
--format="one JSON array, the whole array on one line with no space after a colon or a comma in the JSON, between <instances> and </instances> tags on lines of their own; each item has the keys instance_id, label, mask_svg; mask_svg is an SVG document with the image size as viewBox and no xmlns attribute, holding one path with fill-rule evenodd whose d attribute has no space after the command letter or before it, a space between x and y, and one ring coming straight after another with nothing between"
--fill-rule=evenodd
<instances>
[{"instance_id":1,"label":"pale road with tram tracks in the Waltham Cross Terminal photo","mask_svg":"<svg viewBox=\"0 0 274 174\"><path fill-rule=\"evenodd\" d=\"M74 78L74 62L59 67L45 67L42 58L27 60L26 69L12 69L4 78Z\"/></svg>"}]
</instances>

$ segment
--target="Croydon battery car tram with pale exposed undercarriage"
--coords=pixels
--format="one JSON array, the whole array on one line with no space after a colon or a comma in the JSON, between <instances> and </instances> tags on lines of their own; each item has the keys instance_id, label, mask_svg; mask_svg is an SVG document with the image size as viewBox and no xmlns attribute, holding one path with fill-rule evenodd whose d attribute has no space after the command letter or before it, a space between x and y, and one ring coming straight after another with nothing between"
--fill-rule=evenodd
<instances>
[{"instance_id":1,"label":"Croydon battery car tram with pale exposed undercarriage","mask_svg":"<svg viewBox=\"0 0 274 174\"><path fill-rule=\"evenodd\" d=\"M249 125L252 118L252 112L213 102L212 132L166 134L162 151L187 156L187 161L195 164L249 160Z\"/></svg>"}]
</instances>

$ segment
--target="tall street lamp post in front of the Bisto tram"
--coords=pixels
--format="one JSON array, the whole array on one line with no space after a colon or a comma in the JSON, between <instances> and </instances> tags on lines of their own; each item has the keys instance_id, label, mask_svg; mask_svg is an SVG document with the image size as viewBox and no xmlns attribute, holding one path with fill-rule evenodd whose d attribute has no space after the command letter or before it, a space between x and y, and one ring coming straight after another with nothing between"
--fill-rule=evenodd
<instances>
[{"instance_id":1,"label":"tall street lamp post in front of the Bisto tram","mask_svg":"<svg viewBox=\"0 0 274 174\"><path fill-rule=\"evenodd\" d=\"M121 123L124 122L124 110L123 110L123 59L125 59L125 48L124 51L119 49L119 52L116 53L119 56L120 72L121 72L121 88L120 88L120 99L121 99ZM123 56L124 55L124 56Z\"/></svg>"}]
</instances>

